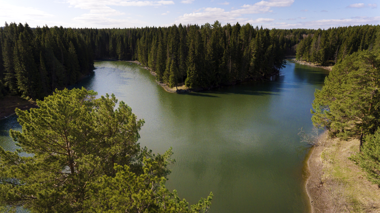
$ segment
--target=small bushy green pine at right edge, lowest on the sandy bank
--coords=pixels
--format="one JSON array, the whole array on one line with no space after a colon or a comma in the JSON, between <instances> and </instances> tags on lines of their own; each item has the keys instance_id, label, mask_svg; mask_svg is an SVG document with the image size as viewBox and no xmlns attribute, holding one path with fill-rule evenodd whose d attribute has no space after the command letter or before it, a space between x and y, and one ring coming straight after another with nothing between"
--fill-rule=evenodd
<instances>
[{"instance_id":1,"label":"small bushy green pine at right edge, lowest on the sandy bank","mask_svg":"<svg viewBox=\"0 0 380 213\"><path fill-rule=\"evenodd\" d=\"M363 152L350 157L363 171L367 172L368 180L380 187L380 130L364 138Z\"/></svg>"}]
</instances>

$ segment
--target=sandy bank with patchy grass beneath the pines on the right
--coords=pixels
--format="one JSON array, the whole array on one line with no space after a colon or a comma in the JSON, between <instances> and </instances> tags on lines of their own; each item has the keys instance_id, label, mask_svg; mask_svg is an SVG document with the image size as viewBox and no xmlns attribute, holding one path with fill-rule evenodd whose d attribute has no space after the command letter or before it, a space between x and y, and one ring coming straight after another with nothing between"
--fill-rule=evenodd
<instances>
[{"instance_id":1,"label":"sandy bank with patchy grass beneath the pines on the right","mask_svg":"<svg viewBox=\"0 0 380 213\"><path fill-rule=\"evenodd\" d=\"M380 188L348 157L359 151L359 140L329 139L327 132L307 161L306 190L312 213L380 212Z\"/></svg>"}]
</instances>

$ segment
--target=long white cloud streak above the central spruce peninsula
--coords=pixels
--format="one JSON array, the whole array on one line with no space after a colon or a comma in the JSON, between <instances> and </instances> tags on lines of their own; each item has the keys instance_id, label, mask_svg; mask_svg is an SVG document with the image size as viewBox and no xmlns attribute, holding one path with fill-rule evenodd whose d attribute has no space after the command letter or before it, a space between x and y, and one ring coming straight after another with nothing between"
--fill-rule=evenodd
<instances>
[{"instance_id":1,"label":"long white cloud streak above the central spruce peninsula","mask_svg":"<svg viewBox=\"0 0 380 213\"><path fill-rule=\"evenodd\" d=\"M247 23L249 21L254 21L253 23L266 23L268 20L273 21L272 19L250 19L242 17L245 14L260 14L260 13L271 13L271 7L286 7L293 4L294 0L269 0L257 2L253 5L243 5L241 9L233 9L231 11L225 11L222 8L201 8L199 11L193 13L185 13L183 16L180 16L175 21L176 23L213 23L215 20L218 20L222 23L233 23L233 22L242 22ZM261 22L257 22L261 21Z\"/></svg>"}]
</instances>

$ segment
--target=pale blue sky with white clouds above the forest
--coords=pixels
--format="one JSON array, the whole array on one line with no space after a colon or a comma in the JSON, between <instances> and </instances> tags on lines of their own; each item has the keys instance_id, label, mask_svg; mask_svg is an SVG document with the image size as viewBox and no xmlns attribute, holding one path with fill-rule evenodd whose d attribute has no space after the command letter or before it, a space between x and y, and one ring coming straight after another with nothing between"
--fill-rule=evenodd
<instances>
[{"instance_id":1,"label":"pale blue sky with white clouds above the forest","mask_svg":"<svg viewBox=\"0 0 380 213\"><path fill-rule=\"evenodd\" d=\"M379 0L0 0L5 22L72 28L239 22L264 28L380 24Z\"/></svg>"}]
</instances>

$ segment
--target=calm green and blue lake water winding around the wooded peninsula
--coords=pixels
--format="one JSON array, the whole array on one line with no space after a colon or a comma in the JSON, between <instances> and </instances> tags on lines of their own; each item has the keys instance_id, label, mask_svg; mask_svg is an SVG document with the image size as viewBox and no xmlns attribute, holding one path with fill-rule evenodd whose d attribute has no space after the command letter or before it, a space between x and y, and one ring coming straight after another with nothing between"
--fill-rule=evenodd
<instances>
[{"instance_id":1,"label":"calm green and blue lake water winding around the wooded peninsula","mask_svg":"<svg viewBox=\"0 0 380 213\"><path fill-rule=\"evenodd\" d=\"M287 62L271 81L250 81L201 92L166 92L141 66L95 62L94 74L76 87L114 93L146 123L141 146L155 153L173 147L176 163L166 187L195 204L212 191L211 213L310 212L299 128L312 128L313 92L328 71ZM0 146L15 150L0 120Z\"/></svg>"}]
</instances>

